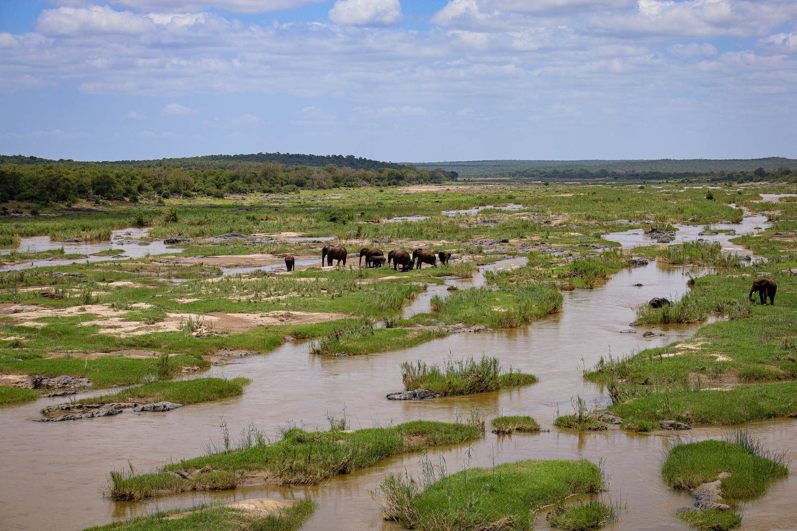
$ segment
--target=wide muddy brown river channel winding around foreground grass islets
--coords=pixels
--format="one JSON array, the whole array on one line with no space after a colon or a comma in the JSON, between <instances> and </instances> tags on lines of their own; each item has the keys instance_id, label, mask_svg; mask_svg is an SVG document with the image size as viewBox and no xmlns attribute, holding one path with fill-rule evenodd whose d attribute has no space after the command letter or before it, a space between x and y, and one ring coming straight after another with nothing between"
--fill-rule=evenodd
<instances>
[{"instance_id":1,"label":"wide muddy brown river channel winding around foreground grass islets","mask_svg":"<svg viewBox=\"0 0 797 531\"><path fill-rule=\"evenodd\" d=\"M639 231L641 232L641 231ZM504 260L490 267L514 267L521 260ZM481 267L483 270L485 267ZM198 404L168 413L112 417L75 422L29 422L38 410L63 398L42 398L32 404L0 408L0 529L59 529L72 531L136 515L187 507L201 502L230 502L264 496L310 496L319 509L304 525L305 531L349 529L402 529L383 521L379 506L368 490L375 489L389 472L420 473L420 454L388 459L375 467L346 474L317 486L256 486L218 493L186 493L150 502L112 502L104 498L110 470L128 467L151 471L181 458L202 455L211 439L220 438L219 424L226 421L230 435L253 423L269 434L292 421L308 428L328 428L327 412L344 411L352 429L406 420L453 421L479 408L482 416L530 415L544 429L533 434L495 435L488 431L470 446L444 447L449 472L489 467L519 459L603 459L611 478L605 497L624 508L618 521L606 529L688 529L675 514L691 505L688 493L665 485L659 473L665 440L672 432L636 434L559 430L552 426L557 410L571 411L571 398L581 396L591 404L605 403L603 386L584 381L580 370L601 356L619 356L688 338L697 326L657 326L665 337L643 339L620 334L634 320L633 307L654 296L677 298L687 288L687 270L651 263L627 268L594 290L565 291L563 310L550 318L515 330L452 334L402 351L361 357L317 357L307 342L289 342L262 356L241 358L237 365L213 367L202 375L249 377L253 383L244 395L212 404ZM473 279L449 280L461 287L483 283ZM634 286L641 283L642 286ZM408 313L423 311L434 293L446 286L430 286ZM420 402L386 400L387 392L402 388L399 365L421 359L440 362L455 357L500 357L502 365L536 374L540 382L522 388ZM797 438L797 421L760 421L745 428L766 439L772 449L787 449ZM727 428L695 428L686 436L718 437ZM468 454L470 457L468 457ZM793 481L792 481L793 480ZM747 504L740 529L797 529L797 478L777 479L763 497ZM548 527L543 517L537 529Z\"/></svg>"}]
</instances>

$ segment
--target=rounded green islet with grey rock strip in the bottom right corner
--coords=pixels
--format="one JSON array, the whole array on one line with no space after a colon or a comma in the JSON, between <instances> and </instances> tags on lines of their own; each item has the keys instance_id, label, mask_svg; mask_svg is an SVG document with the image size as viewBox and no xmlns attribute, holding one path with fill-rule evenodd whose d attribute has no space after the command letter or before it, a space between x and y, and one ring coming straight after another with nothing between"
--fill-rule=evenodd
<instances>
[{"instance_id":1,"label":"rounded green islet with grey rock strip in the bottom right corner","mask_svg":"<svg viewBox=\"0 0 797 531\"><path fill-rule=\"evenodd\" d=\"M788 474L784 455L766 450L743 431L730 440L705 440L675 443L662 465L665 481L677 489L692 490L701 483L713 482L720 473L722 501L732 510L686 510L681 517L701 529L731 529L741 523L738 502L766 492L769 482Z\"/></svg>"}]
</instances>

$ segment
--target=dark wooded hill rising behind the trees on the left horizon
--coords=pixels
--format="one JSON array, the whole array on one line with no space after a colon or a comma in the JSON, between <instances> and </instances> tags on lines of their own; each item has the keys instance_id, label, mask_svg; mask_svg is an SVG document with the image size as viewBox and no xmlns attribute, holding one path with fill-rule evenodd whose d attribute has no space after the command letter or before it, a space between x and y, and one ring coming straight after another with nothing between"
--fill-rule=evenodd
<instances>
[{"instance_id":1,"label":"dark wooded hill rising behind the trees on the left horizon","mask_svg":"<svg viewBox=\"0 0 797 531\"><path fill-rule=\"evenodd\" d=\"M23 155L0 155L0 164L53 164L56 162L76 162L72 159L65 161L51 160L49 158L25 157ZM88 162L88 161L86 161ZM119 161L96 161L96 164L108 166L135 166L151 168L155 166L169 166L171 168L185 168L187 166L207 166L226 168L231 162L242 162L249 164L262 164L263 162L278 162L288 166L309 166L314 168L324 166L344 166L352 170L379 170L379 168L393 168L401 170L405 166L396 162L383 162L371 160L371 158L355 157L354 155L313 155L299 153L255 153L238 155L203 155L201 157L180 157L180 158L155 158L152 160L119 160Z\"/></svg>"}]
</instances>

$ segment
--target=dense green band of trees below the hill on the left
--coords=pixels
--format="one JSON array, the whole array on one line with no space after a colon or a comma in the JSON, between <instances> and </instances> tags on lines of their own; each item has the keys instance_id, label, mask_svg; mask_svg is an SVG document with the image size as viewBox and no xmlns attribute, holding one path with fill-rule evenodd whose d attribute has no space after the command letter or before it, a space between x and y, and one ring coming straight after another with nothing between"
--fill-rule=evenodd
<instances>
[{"instance_id":1,"label":"dense green band of trees below the hill on the left","mask_svg":"<svg viewBox=\"0 0 797 531\"><path fill-rule=\"evenodd\" d=\"M343 165L311 168L279 162L231 161L224 168L209 168L202 162L178 168L25 159L34 162L0 156L0 201L46 205L74 202L90 195L116 195L135 202L139 197L168 198L173 194L224 197L230 193L294 193L299 189L439 184L457 180L456 172L411 165L357 170Z\"/></svg>"}]
</instances>

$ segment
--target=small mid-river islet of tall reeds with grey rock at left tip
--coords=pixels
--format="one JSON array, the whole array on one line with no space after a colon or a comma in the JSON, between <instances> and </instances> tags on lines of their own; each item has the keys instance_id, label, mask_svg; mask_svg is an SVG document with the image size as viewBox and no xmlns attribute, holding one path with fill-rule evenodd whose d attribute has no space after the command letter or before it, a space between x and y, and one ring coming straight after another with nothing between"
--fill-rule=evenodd
<instances>
[{"instance_id":1,"label":"small mid-river islet of tall reeds with grey rock at left tip","mask_svg":"<svg viewBox=\"0 0 797 531\"><path fill-rule=\"evenodd\" d=\"M469 395L474 392L489 392L536 383L533 374L513 372L501 367L495 356L482 355L479 361L473 357L461 360L446 360L442 366L426 365L424 361L401 365L404 388L429 389L442 396Z\"/></svg>"}]
</instances>

